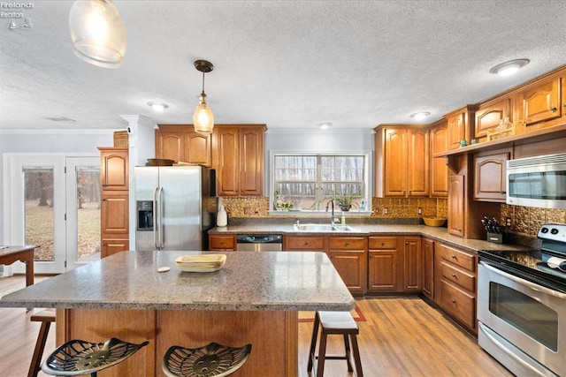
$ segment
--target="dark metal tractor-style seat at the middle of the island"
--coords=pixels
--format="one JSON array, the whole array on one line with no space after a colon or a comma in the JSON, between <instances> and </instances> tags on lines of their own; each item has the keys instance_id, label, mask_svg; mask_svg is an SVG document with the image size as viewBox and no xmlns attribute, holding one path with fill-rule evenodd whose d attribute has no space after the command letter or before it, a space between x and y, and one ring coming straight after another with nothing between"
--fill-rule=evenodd
<instances>
[{"instance_id":1,"label":"dark metal tractor-style seat at the middle of the island","mask_svg":"<svg viewBox=\"0 0 566 377\"><path fill-rule=\"evenodd\" d=\"M236 348L210 343L195 349L173 345L161 366L167 377L224 377L240 369L250 352L251 344Z\"/></svg>"}]
</instances>

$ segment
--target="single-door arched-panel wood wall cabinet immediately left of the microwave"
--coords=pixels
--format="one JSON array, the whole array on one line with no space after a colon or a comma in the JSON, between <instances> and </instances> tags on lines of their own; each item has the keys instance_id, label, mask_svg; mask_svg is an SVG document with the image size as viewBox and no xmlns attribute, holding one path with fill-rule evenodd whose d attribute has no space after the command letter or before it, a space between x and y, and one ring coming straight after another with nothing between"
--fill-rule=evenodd
<instances>
[{"instance_id":1,"label":"single-door arched-panel wood wall cabinet immediately left of the microwave","mask_svg":"<svg viewBox=\"0 0 566 377\"><path fill-rule=\"evenodd\" d=\"M474 200L505 202L506 163L511 155L511 148L474 155Z\"/></svg>"}]
</instances>

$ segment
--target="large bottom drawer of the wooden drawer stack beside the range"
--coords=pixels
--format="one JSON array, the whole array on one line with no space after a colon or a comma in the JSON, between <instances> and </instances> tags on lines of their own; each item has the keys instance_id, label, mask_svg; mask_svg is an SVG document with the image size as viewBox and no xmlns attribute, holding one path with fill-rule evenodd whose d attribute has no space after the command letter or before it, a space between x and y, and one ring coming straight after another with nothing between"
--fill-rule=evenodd
<instances>
[{"instance_id":1,"label":"large bottom drawer of the wooden drawer stack beside the range","mask_svg":"<svg viewBox=\"0 0 566 377\"><path fill-rule=\"evenodd\" d=\"M440 281L440 305L469 328L476 328L476 297L443 280Z\"/></svg>"}]
</instances>

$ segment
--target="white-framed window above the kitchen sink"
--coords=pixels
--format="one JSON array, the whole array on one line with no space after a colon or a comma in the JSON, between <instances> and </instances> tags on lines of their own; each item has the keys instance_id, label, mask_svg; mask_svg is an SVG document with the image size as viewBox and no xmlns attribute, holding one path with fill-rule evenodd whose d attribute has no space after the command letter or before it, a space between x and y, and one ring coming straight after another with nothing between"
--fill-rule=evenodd
<instances>
[{"instance_id":1,"label":"white-framed window above the kitchen sink","mask_svg":"<svg viewBox=\"0 0 566 377\"><path fill-rule=\"evenodd\" d=\"M368 203L367 154L272 155L272 208L325 211L330 200L350 199L351 209Z\"/></svg>"}]
</instances>

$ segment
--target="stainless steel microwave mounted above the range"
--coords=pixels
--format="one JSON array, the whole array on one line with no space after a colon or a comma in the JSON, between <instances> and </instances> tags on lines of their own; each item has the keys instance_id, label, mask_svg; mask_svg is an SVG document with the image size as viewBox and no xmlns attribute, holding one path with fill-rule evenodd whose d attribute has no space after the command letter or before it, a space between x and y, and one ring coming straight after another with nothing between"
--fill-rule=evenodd
<instances>
[{"instance_id":1,"label":"stainless steel microwave mounted above the range","mask_svg":"<svg viewBox=\"0 0 566 377\"><path fill-rule=\"evenodd\" d=\"M506 174L507 204L566 208L566 154L509 160Z\"/></svg>"}]
</instances>

